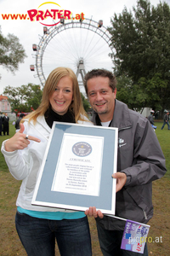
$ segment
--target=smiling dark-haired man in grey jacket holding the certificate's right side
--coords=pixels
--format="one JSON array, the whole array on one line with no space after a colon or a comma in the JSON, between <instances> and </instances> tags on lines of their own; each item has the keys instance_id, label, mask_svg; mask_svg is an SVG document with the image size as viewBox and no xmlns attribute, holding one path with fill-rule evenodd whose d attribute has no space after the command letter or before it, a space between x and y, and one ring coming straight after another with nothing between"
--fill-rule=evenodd
<instances>
[{"instance_id":1,"label":"smiling dark-haired man in grey jacket holding the certificate's right side","mask_svg":"<svg viewBox=\"0 0 170 256\"><path fill-rule=\"evenodd\" d=\"M118 128L116 216L146 224L153 216L151 182L166 170L160 144L148 119L116 100L116 78L105 69L94 69L84 79L95 125ZM125 221L103 215L95 207L85 212L96 218L99 244L105 256L138 255L120 249ZM144 254L148 255L147 246Z\"/></svg>"}]
</instances>

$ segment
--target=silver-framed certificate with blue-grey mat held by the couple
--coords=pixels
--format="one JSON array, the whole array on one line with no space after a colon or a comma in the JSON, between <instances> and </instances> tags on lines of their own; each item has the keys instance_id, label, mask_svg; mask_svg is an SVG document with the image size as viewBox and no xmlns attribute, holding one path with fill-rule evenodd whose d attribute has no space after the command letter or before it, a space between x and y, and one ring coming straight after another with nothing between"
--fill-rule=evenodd
<instances>
[{"instance_id":1,"label":"silver-framed certificate with blue-grey mat held by the couple","mask_svg":"<svg viewBox=\"0 0 170 256\"><path fill-rule=\"evenodd\" d=\"M115 214L118 129L54 122L32 204Z\"/></svg>"}]
</instances>

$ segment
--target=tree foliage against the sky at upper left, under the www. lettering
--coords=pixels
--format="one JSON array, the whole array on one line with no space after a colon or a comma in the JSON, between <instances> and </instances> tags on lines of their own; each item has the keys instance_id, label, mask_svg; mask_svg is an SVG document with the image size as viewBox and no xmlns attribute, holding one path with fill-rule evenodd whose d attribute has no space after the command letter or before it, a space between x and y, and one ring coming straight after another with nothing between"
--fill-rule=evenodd
<instances>
[{"instance_id":1,"label":"tree foliage against the sky at upper left, under the www. lettering","mask_svg":"<svg viewBox=\"0 0 170 256\"><path fill-rule=\"evenodd\" d=\"M14 73L18 70L19 63L24 62L25 57L26 52L19 43L19 38L13 34L8 34L7 38L4 38L0 27L0 65Z\"/></svg>"}]
</instances>

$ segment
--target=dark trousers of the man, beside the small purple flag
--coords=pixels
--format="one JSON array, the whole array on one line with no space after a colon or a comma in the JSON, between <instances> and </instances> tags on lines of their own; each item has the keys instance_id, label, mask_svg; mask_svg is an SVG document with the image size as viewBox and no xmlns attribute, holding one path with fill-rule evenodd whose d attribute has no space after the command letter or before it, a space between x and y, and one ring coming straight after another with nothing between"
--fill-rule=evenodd
<instances>
[{"instance_id":1,"label":"dark trousers of the man, beside the small purple flag","mask_svg":"<svg viewBox=\"0 0 170 256\"><path fill-rule=\"evenodd\" d=\"M121 249L123 231L105 230L97 223L99 245L104 256L148 256L147 245L144 253L134 253Z\"/></svg>"}]
</instances>

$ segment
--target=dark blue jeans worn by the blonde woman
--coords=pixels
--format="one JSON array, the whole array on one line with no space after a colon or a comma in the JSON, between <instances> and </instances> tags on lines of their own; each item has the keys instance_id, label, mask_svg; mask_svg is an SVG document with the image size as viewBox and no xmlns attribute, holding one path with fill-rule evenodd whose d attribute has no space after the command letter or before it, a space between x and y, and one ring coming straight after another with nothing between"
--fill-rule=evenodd
<instances>
[{"instance_id":1,"label":"dark blue jeans worn by the blonde woman","mask_svg":"<svg viewBox=\"0 0 170 256\"><path fill-rule=\"evenodd\" d=\"M61 256L91 256L88 218L48 220L16 212L16 230L28 256L54 256L55 238Z\"/></svg>"}]
</instances>

